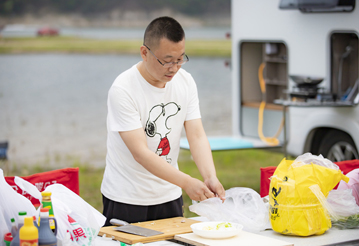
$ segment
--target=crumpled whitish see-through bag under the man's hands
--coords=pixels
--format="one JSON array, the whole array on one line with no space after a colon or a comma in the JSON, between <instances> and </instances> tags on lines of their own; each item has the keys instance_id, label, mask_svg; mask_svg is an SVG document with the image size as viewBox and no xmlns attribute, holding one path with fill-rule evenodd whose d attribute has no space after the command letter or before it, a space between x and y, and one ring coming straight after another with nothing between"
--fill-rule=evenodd
<instances>
[{"instance_id":1,"label":"crumpled whitish see-through bag under the man's hands","mask_svg":"<svg viewBox=\"0 0 359 246\"><path fill-rule=\"evenodd\" d=\"M250 188L231 188L226 191L224 203L214 197L191 205L189 210L210 221L239 223L245 231L256 232L271 228L266 205L259 194Z\"/></svg>"}]
</instances>

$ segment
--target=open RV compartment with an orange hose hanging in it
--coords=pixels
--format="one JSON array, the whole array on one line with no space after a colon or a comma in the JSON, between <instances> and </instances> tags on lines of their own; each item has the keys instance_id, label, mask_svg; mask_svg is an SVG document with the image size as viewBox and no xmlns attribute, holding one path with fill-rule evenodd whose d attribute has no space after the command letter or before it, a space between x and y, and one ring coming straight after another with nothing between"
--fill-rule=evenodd
<instances>
[{"instance_id":1,"label":"open RV compartment with an orange hose hanging in it","mask_svg":"<svg viewBox=\"0 0 359 246\"><path fill-rule=\"evenodd\" d=\"M286 99L288 54L283 42L240 43L240 131L243 136L258 137L259 106L266 103L263 133L272 136L282 119L282 106L276 99ZM262 81L265 87L261 88ZM282 138L282 136L280 136Z\"/></svg>"}]
</instances>

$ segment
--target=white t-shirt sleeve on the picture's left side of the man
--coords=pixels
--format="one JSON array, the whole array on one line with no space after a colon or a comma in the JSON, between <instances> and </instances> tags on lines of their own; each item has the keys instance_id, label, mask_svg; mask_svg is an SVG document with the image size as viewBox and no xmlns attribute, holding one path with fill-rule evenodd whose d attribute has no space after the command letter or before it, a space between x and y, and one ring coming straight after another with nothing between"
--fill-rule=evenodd
<instances>
[{"instance_id":1,"label":"white t-shirt sleeve on the picture's left side of the man","mask_svg":"<svg viewBox=\"0 0 359 246\"><path fill-rule=\"evenodd\" d=\"M107 100L109 131L131 131L142 128L141 117L130 93L121 86L112 86Z\"/></svg>"}]
</instances>

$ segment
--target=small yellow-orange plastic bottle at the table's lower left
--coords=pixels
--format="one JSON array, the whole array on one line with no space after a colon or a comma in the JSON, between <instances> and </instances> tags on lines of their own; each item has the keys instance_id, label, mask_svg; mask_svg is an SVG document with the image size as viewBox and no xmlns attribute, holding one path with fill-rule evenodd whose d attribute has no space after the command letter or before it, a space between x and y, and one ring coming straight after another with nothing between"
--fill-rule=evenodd
<instances>
[{"instance_id":1,"label":"small yellow-orange plastic bottle at the table's lower left","mask_svg":"<svg viewBox=\"0 0 359 246\"><path fill-rule=\"evenodd\" d=\"M38 246L39 232L32 217L25 217L24 226L20 228L20 246Z\"/></svg>"}]
</instances>

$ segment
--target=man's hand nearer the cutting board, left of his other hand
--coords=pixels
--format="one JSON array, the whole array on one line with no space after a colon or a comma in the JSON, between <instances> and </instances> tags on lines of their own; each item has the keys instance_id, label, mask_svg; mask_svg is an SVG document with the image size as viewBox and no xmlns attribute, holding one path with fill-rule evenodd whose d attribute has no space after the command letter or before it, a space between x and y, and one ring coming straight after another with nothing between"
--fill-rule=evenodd
<instances>
[{"instance_id":1,"label":"man's hand nearer the cutting board, left of his other hand","mask_svg":"<svg viewBox=\"0 0 359 246\"><path fill-rule=\"evenodd\" d=\"M202 181L192 177L189 177L186 181L185 186L182 188L192 200L204 201L208 198L215 197L214 193L210 191L207 185Z\"/></svg>"}]
</instances>

